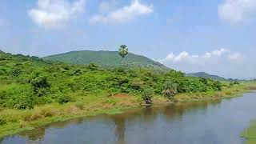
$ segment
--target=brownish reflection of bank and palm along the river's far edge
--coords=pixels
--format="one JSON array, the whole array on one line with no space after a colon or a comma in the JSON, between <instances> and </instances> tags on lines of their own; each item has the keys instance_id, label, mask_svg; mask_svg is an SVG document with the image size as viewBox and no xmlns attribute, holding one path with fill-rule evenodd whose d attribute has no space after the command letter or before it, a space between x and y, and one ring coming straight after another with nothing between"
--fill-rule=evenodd
<instances>
[{"instance_id":1,"label":"brownish reflection of bank and palm along the river's far edge","mask_svg":"<svg viewBox=\"0 0 256 144\"><path fill-rule=\"evenodd\" d=\"M114 135L116 137L116 143L124 144L126 142L126 122L139 121L147 123L150 126L150 123L154 122L160 115L166 119L166 121L182 120L183 114L190 113L190 111L202 110L206 112L207 107L218 106L221 103L221 100L210 100L210 101L200 101L200 102L182 102L166 106L150 106L146 108L137 108L133 110L128 110L123 114L101 114L94 117L87 118L75 118L65 122L54 122L47 126L39 127L36 130L26 130L18 135L6 138L7 143L8 139L12 138L22 138L26 139L28 143L38 143L42 142L46 130L48 129L65 129L67 126L77 126L82 125L85 122L91 122L100 119L102 122L114 122ZM1 142L1 140L0 140Z\"/></svg>"}]
</instances>

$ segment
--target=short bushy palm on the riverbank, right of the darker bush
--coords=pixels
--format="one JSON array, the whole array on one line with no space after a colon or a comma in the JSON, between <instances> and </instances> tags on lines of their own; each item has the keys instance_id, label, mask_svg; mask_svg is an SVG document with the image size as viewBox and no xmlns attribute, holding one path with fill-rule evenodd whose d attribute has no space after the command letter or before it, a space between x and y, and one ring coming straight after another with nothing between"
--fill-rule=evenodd
<instances>
[{"instance_id":1,"label":"short bushy palm on the riverbank, right of the darker bush","mask_svg":"<svg viewBox=\"0 0 256 144\"><path fill-rule=\"evenodd\" d=\"M166 82L164 84L164 90L162 92L166 98L171 99L178 93L177 84L174 82Z\"/></svg>"}]
</instances>

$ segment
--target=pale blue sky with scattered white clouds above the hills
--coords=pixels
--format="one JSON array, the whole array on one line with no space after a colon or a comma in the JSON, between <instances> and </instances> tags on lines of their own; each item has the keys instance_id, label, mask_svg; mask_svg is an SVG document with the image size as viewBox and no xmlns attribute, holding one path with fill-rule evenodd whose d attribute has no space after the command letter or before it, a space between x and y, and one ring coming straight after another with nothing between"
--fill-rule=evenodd
<instances>
[{"instance_id":1,"label":"pale blue sky with scattered white clouds above the hills","mask_svg":"<svg viewBox=\"0 0 256 144\"><path fill-rule=\"evenodd\" d=\"M256 78L256 0L0 0L0 50L145 55L186 73Z\"/></svg>"}]
</instances>

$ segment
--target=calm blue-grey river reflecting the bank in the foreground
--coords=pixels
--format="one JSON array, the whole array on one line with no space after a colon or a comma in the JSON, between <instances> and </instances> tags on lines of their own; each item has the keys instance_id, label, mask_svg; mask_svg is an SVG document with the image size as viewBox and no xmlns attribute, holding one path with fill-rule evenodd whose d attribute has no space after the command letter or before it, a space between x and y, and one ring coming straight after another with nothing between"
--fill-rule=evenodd
<instances>
[{"instance_id":1,"label":"calm blue-grey river reflecting the bank in the foreground","mask_svg":"<svg viewBox=\"0 0 256 144\"><path fill-rule=\"evenodd\" d=\"M54 122L2 139L3 144L241 144L256 119L256 93L182 102ZM1 143L1 140L0 140Z\"/></svg>"}]
</instances>

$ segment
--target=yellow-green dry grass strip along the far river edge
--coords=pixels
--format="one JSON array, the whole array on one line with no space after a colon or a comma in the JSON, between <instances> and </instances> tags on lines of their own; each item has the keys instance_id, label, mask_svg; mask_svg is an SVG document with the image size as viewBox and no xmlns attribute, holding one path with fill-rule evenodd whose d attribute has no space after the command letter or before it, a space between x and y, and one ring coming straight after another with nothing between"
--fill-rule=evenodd
<instances>
[{"instance_id":1,"label":"yellow-green dry grass strip along the far river edge","mask_svg":"<svg viewBox=\"0 0 256 144\"><path fill-rule=\"evenodd\" d=\"M254 84L243 83L238 86L225 87L221 92L178 94L175 102L199 101L214 98L230 98L253 89ZM154 97L154 104L170 103L162 96ZM0 138L17 134L23 130L31 130L51 122L66 121L70 118L85 117L96 114L118 114L134 107L142 106L137 96L117 94L113 97L86 97L81 102L58 103L35 106L33 110L0 110Z\"/></svg>"}]
</instances>

